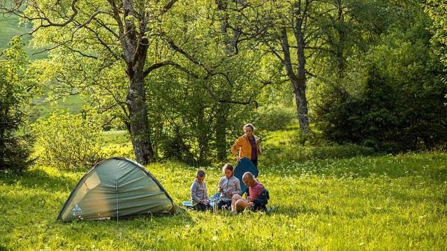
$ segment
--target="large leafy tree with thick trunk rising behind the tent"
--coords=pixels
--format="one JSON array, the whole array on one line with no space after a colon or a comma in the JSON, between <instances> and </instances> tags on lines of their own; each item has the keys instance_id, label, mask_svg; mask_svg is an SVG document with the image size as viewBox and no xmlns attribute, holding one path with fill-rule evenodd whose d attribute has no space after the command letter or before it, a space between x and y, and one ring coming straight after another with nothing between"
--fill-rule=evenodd
<instances>
[{"instance_id":1,"label":"large leafy tree with thick trunk rising behind the tent","mask_svg":"<svg viewBox=\"0 0 447 251\"><path fill-rule=\"evenodd\" d=\"M181 68L170 57L148 56L148 51L149 47L181 51L169 31L163 28L167 13L176 3L177 0L29 0L13 1L12 6L2 7L3 11L7 9L24 22L34 24L31 31L34 43L54 52L50 56L52 65L47 69L58 65L66 68L65 72L53 70L58 84L65 83L65 87L72 87L76 93L82 87L93 89L91 83L94 83L100 86L100 93L114 99L115 102L103 104L103 109L122 110L135 156L139 162L147 163L154 160L154 146L145 78L162 66ZM20 11L21 5L26 7L24 12ZM124 70L125 74L117 70ZM89 74L75 76L73 73ZM120 96L122 89L127 90L124 100Z\"/></svg>"}]
</instances>

